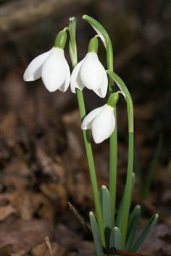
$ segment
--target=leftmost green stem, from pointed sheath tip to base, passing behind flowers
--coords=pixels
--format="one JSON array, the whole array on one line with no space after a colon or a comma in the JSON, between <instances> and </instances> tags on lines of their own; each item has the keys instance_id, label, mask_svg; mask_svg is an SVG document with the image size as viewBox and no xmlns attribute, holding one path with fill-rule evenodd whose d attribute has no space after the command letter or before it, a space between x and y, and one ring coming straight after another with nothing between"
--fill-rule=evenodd
<instances>
[{"instance_id":1,"label":"leftmost green stem, from pointed sheath tip to base, passing behind flowers","mask_svg":"<svg viewBox=\"0 0 171 256\"><path fill-rule=\"evenodd\" d=\"M78 63L77 58L77 46L76 46L76 40L75 40L75 31L76 31L76 19L75 17L72 17L70 19L70 25L69 25L69 33L70 33L70 42L69 42L69 50L70 50L70 59L72 62L72 68L75 68L75 65ZM83 98L83 92L79 89L76 89L77 97L78 97L78 107L80 111L80 118L81 121L86 116L86 108ZM87 130L83 130L83 138L84 143L86 147L86 155L88 159L88 167L89 167L89 174L91 178L91 187L93 191L93 200L94 200L94 206L96 211L96 218L97 223L99 226L99 235L101 237L101 244L105 247L105 238L104 238L104 225L103 225L103 218L102 218L102 212L101 212L101 205L99 200L99 190L98 190L98 184L96 179L96 170L94 167L94 161L93 161L93 151L91 148L91 140L88 134Z\"/></svg>"}]
</instances>

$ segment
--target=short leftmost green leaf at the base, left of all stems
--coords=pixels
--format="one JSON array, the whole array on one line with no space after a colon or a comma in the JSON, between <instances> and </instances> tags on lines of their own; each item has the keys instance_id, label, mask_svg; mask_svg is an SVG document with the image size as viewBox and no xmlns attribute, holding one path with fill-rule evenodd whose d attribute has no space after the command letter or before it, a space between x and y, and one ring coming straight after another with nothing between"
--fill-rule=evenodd
<instances>
[{"instance_id":1,"label":"short leftmost green leaf at the base, left of all stems","mask_svg":"<svg viewBox=\"0 0 171 256\"><path fill-rule=\"evenodd\" d=\"M96 222L96 217L94 217L93 212L90 212L90 223L91 223L91 231L93 233L93 239L96 245L96 252L98 256L104 256L104 250L101 245L101 239L99 236L99 228Z\"/></svg>"}]
</instances>

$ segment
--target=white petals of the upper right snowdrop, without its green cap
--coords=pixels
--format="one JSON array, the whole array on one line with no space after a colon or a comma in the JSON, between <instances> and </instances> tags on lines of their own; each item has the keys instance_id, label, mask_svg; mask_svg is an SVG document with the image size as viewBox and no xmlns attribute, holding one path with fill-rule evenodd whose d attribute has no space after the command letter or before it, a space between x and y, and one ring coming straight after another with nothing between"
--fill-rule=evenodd
<instances>
[{"instance_id":1,"label":"white petals of the upper right snowdrop, without its green cap","mask_svg":"<svg viewBox=\"0 0 171 256\"><path fill-rule=\"evenodd\" d=\"M107 73L96 52L88 52L72 71L71 91L75 93L76 88L82 90L84 87L92 89L99 97L107 94Z\"/></svg>"}]
</instances>

